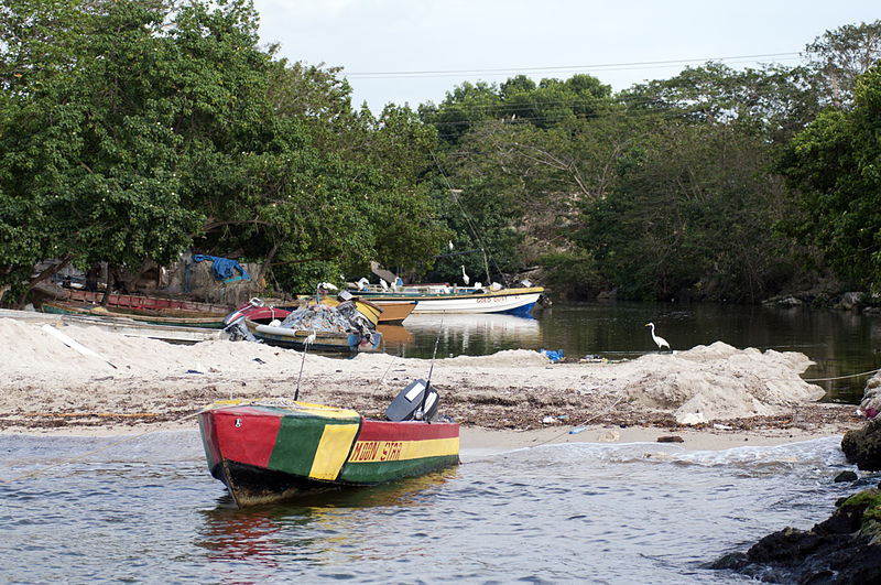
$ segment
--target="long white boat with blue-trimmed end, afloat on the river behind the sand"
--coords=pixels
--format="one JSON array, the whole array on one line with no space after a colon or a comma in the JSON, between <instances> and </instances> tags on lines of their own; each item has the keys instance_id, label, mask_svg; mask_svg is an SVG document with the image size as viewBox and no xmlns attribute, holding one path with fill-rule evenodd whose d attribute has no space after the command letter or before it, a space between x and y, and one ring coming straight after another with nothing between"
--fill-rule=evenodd
<instances>
[{"instance_id":1,"label":"long white boat with blue-trimmed end, afloat on the river behind the sand","mask_svg":"<svg viewBox=\"0 0 881 585\"><path fill-rule=\"evenodd\" d=\"M544 292L541 286L493 290L490 286L447 286L427 284L401 286L396 291L350 291L381 307L385 303L417 301L413 314L426 313L509 313L527 314Z\"/></svg>"}]
</instances>

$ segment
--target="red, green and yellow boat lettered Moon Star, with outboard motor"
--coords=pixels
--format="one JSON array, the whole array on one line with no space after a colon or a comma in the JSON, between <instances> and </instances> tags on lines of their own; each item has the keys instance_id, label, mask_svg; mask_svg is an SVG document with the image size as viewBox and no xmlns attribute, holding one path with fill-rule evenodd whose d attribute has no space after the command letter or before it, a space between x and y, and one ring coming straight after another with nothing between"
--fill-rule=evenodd
<instances>
[{"instance_id":1,"label":"red, green and yellow boat lettered Moon Star, with outboard motor","mask_svg":"<svg viewBox=\"0 0 881 585\"><path fill-rule=\"evenodd\" d=\"M395 402L409 400L411 415L422 412L416 407L426 386L414 382ZM436 397L432 390L426 397L435 412ZM239 507L373 486L459 463L455 422L371 420L354 410L279 399L218 402L198 419L208 469Z\"/></svg>"}]
</instances>

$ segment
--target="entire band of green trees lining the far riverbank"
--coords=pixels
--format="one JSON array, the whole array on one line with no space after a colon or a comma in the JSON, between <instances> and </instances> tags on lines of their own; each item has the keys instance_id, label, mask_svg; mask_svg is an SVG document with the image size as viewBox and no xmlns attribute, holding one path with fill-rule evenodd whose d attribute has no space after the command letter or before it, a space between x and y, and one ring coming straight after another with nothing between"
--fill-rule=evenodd
<instances>
[{"instance_id":1,"label":"entire band of green trees lining the far riverbank","mask_svg":"<svg viewBox=\"0 0 881 585\"><path fill-rule=\"evenodd\" d=\"M2 304L59 264L134 278L186 249L289 292L371 260L572 299L881 286L881 21L806 40L796 66L707 63L617 94L520 75L377 115L258 22L246 0L6 3Z\"/></svg>"}]
</instances>

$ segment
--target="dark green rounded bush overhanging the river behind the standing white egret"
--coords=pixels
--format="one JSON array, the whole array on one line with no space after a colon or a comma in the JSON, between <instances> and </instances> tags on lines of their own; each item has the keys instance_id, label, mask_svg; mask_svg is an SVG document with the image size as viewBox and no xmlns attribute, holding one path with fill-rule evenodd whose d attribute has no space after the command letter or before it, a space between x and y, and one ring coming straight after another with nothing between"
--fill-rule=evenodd
<instances>
[{"instance_id":1,"label":"dark green rounded bush overhanging the river behind the standing white egret","mask_svg":"<svg viewBox=\"0 0 881 585\"><path fill-rule=\"evenodd\" d=\"M754 301L788 275L770 235L781 188L761 142L717 124L646 134L608 197L585 205L583 248L633 300Z\"/></svg>"}]
</instances>

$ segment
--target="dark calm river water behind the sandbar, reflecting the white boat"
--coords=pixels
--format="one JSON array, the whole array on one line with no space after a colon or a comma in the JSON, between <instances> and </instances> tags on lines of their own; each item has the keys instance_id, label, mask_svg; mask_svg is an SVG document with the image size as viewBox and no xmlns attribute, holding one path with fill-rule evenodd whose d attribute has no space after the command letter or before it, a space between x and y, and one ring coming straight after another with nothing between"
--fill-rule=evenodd
<instances>
[{"instance_id":1,"label":"dark calm river water behind the sandbar, reflecting the white boat","mask_svg":"<svg viewBox=\"0 0 881 585\"><path fill-rule=\"evenodd\" d=\"M827 401L859 402L868 376L850 376L881 367L881 317L807 307L594 303L535 308L533 318L411 315L403 325L381 327L382 348L431 358L437 342L437 357L525 348L562 349L567 359L633 359L657 350L645 327L649 322L674 350L724 342L805 354L816 364L805 379L847 377L816 382L826 390Z\"/></svg>"}]
</instances>

